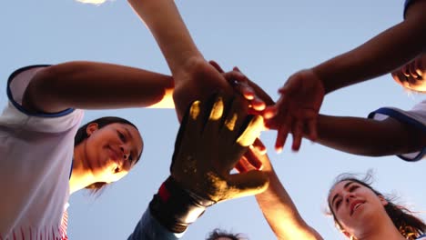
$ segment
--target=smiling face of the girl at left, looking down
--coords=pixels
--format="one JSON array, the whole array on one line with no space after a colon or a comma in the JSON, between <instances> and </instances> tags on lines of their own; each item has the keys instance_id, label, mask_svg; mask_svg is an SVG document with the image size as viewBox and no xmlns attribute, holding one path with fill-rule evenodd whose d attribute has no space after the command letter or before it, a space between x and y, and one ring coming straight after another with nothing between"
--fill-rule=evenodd
<instances>
[{"instance_id":1,"label":"smiling face of the girl at left, looking down","mask_svg":"<svg viewBox=\"0 0 426 240\"><path fill-rule=\"evenodd\" d=\"M142 137L132 125L115 123L98 128L94 123L86 132L86 165L97 182L116 182L142 154Z\"/></svg>"}]
</instances>

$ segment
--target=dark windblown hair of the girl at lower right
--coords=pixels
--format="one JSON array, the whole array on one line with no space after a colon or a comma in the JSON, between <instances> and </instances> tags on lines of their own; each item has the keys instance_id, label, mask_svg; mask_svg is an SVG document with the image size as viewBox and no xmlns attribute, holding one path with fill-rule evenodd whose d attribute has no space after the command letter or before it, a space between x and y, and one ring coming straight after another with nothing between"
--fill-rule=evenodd
<instances>
[{"instance_id":1,"label":"dark windblown hair of the girl at lower right","mask_svg":"<svg viewBox=\"0 0 426 240\"><path fill-rule=\"evenodd\" d=\"M384 208L386 210L386 213L391 218L393 225L395 225L395 227L398 229L401 235L403 235L406 239L414 240L420 235L424 234L426 230L426 225L424 224L424 222L420 218L414 216L414 212L412 212L405 206L394 204L393 202L396 199L395 196L383 195L379 191L374 189L371 186L372 178L373 177L370 170L361 179L358 178L358 175L355 175L355 174L348 174L348 173L341 174L336 177L336 180L333 186L330 188L330 191L335 185L343 181L350 181L350 182L355 182L360 185L363 185L369 188L374 194L383 197L388 202L388 204L385 205ZM329 202L329 209L330 209L330 214L333 215L334 223L340 228L340 230L343 230L343 227L340 225L339 221L337 220L336 215L334 215L330 202Z\"/></svg>"}]
</instances>

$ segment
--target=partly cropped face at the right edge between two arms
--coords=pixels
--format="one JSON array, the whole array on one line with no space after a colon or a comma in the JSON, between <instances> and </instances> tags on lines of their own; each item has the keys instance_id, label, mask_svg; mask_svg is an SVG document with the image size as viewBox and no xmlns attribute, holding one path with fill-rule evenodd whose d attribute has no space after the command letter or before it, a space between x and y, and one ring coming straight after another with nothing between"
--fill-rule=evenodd
<instances>
[{"instance_id":1,"label":"partly cropped face at the right edge between two arms","mask_svg":"<svg viewBox=\"0 0 426 240\"><path fill-rule=\"evenodd\" d=\"M426 54L420 55L392 73L393 79L403 87L426 93Z\"/></svg>"}]
</instances>

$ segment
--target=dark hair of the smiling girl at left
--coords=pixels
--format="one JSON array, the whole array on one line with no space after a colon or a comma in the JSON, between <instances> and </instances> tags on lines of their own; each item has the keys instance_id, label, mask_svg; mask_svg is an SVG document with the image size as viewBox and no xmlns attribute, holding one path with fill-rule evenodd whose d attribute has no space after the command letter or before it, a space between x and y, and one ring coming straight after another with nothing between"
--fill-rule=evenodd
<instances>
[{"instance_id":1,"label":"dark hair of the smiling girl at left","mask_svg":"<svg viewBox=\"0 0 426 240\"><path fill-rule=\"evenodd\" d=\"M86 123L86 125L82 125L80 126L80 128L78 128L76 132L76 136L74 137L74 146L81 144L88 137L86 132L87 125L90 125L93 123L96 123L98 128L102 128L106 125L111 125L111 124L125 124L125 125L131 125L137 129L136 125L130 123L129 121L121 117L105 116L105 117L97 118L93 121ZM137 129L137 131L139 130ZM139 159L140 159L140 155L137 156L137 159L135 160L135 164L137 164L137 161L139 161ZM101 191L106 185L108 184L104 182L98 182L91 185L87 185L86 189L89 189L89 191L91 191L92 194L96 194L96 193L99 193L99 191Z\"/></svg>"}]
</instances>

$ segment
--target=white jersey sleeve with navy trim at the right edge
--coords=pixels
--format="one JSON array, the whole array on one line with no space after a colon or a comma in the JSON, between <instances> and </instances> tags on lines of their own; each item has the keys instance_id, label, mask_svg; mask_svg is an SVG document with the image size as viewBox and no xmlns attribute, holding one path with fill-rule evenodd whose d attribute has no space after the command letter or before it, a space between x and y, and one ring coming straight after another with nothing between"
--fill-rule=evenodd
<instances>
[{"instance_id":1,"label":"white jersey sleeve with navy trim at the right edge","mask_svg":"<svg viewBox=\"0 0 426 240\"><path fill-rule=\"evenodd\" d=\"M421 133L426 135L426 100L414 105L409 111L403 111L396 107L381 107L378 110L370 113L369 118L383 120L391 117L399 122L412 125L419 129ZM421 151L398 155L401 159L406 161L419 161L426 155L426 146Z\"/></svg>"}]
</instances>

